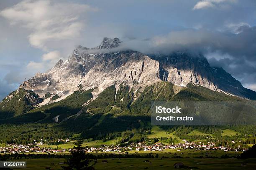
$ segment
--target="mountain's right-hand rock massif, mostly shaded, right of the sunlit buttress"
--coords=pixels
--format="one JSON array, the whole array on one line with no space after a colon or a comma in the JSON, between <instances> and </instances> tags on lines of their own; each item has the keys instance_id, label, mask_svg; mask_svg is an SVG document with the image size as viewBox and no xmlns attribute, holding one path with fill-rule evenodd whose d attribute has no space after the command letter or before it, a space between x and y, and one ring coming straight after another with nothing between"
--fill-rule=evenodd
<instances>
[{"instance_id":1,"label":"mountain's right-hand rock massif, mostly shaded, right of the sunlit buttress","mask_svg":"<svg viewBox=\"0 0 256 170\"><path fill-rule=\"evenodd\" d=\"M243 87L241 82L221 67L211 67L203 55L175 52L170 55L150 55L159 61L162 80L185 86L192 82L210 90L249 100L256 100L256 92Z\"/></svg>"}]
</instances>

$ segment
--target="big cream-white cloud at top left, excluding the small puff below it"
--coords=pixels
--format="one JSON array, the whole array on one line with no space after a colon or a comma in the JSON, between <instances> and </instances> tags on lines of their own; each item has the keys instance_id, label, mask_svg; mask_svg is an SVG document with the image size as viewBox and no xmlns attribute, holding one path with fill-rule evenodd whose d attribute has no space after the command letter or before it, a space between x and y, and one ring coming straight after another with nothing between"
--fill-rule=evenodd
<instances>
[{"instance_id":1,"label":"big cream-white cloud at top left, excluding the small puff below it","mask_svg":"<svg viewBox=\"0 0 256 170\"><path fill-rule=\"evenodd\" d=\"M11 25L21 25L31 30L28 39L33 47L49 50L50 41L78 38L85 27L79 17L96 10L97 8L86 4L23 0L12 7L5 8L0 15L9 20Z\"/></svg>"}]
</instances>

